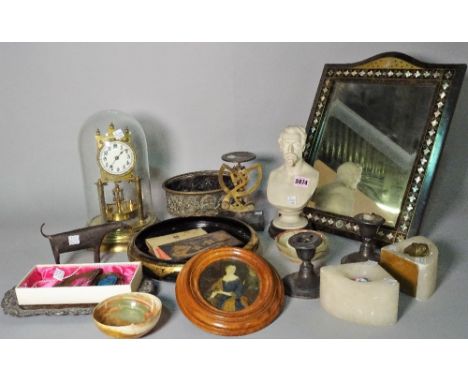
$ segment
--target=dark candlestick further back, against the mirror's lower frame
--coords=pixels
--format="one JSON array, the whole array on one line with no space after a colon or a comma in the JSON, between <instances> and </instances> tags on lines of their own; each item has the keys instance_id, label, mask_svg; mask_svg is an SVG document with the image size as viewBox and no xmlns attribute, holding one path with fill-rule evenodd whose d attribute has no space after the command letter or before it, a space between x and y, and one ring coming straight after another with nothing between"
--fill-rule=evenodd
<instances>
[{"instance_id":1,"label":"dark candlestick further back, against the mirror's lower frame","mask_svg":"<svg viewBox=\"0 0 468 382\"><path fill-rule=\"evenodd\" d=\"M354 217L359 225L362 244L359 252L353 252L341 259L341 264L359 263L361 261L379 261L379 253L376 251L374 237L380 226L385 222L382 216L372 214L358 214Z\"/></svg>"}]
</instances>

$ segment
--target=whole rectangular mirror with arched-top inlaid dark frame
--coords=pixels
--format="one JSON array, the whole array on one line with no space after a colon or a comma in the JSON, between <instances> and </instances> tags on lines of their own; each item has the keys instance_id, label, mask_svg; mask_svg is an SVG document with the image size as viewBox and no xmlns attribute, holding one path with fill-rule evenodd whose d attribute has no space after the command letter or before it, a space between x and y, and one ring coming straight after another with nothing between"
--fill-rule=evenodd
<instances>
[{"instance_id":1,"label":"whole rectangular mirror with arched-top inlaid dark frame","mask_svg":"<svg viewBox=\"0 0 468 382\"><path fill-rule=\"evenodd\" d=\"M325 65L303 154L320 173L316 229L357 239L353 216L373 212L382 244L417 234L465 70L401 53Z\"/></svg>"}]
</instances>

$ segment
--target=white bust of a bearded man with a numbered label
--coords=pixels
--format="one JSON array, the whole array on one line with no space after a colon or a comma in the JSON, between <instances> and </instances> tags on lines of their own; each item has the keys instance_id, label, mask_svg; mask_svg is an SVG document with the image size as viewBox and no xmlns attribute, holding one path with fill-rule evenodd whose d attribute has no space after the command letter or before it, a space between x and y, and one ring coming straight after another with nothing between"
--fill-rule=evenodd
<instances>
[{"instance_id":1,"label":"white bust of a bearded man with a numbered label","mask_svg":"<svg viewBox=\"0 0 468 382\"><path fill-rule=\"evenodd\" d=\"M280 229L297 229L307 225L302 210L318 184L318 171L302 159L306 141L302 126L285 128L278 139L284 164L268 178L267 198L278 209L273 225Z\"/></svg>"}]
</instances>

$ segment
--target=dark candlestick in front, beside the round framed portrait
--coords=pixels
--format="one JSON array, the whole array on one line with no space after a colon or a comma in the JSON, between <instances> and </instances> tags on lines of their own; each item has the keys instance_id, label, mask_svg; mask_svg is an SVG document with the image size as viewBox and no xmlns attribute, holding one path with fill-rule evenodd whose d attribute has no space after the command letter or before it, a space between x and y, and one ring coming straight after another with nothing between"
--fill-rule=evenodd
<instances>
[{"instance_id":1,"label":"dark candlestick in front, beside the round framed portrait","mask_svg":"<svg viewBox=\"0 0 468 382\"><path fill-rule=\"evenodd\" d=\"M296 249L302 264L299 272L283 278L286 295L299 298L319 297L320 278L314 272L312 259L321 242L322 238L313 232L299 232L288 240L289 245Z\"/></svg>"}]
</instances>

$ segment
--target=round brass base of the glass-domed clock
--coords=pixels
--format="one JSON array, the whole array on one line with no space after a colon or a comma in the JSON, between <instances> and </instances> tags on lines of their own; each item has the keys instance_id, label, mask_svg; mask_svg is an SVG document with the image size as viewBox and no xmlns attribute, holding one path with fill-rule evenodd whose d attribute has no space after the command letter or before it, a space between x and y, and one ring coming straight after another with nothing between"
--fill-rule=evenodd
<instances>
[{"instance_id":1,"label":"round brass base of the glass-domed clock","mask_svg":"<svg viewBox=\"0 0 468 382\"><path fill-rule=\"evenodd\" d=\"M156 217L150 216L143 221L137 221L136 223L128 223L132 226L132 229L119 229L111 232L104 237L100 250L101 253L121 253L127 252L128 244L132 240L133 236L146 227L147 225L156 222ZM102 217L96 216L91 220L89 225L102 224Z\"/></svg>"}]
</instances>

